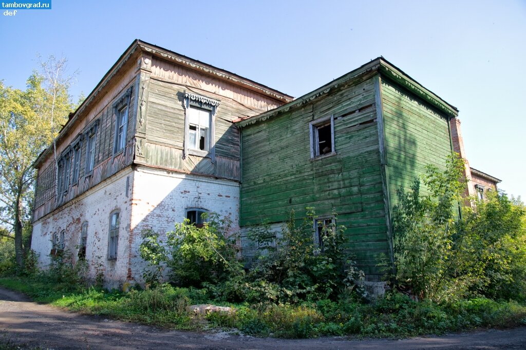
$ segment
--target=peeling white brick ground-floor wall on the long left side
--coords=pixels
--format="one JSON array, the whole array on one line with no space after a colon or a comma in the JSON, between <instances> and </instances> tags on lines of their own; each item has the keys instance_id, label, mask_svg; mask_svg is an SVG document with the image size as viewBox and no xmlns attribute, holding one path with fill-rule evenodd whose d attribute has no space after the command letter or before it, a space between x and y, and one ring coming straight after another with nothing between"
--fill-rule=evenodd
<instances>
[{"instance_id":1,"label":"peeling white brick ground-floor wall on the long left side","mask_svg":"<svg viewBox=\"0 0 526 350\"><path fill-rule=\"evenodd\" d=\"M96 266L100 263L108 287L117 287L123 283L128 275L133 175L131 167L126 168L36 221L33 225L31 248L39 254L39 265L46 267L49 264L52 234L53 232L58 234L62 230L66 230L65 249L73 252L76 258L78 253L76 246L80 242L82 223L87 221L86 260L89 263L89 277L92 279L95 277ZM128 197L126 197L127 183ZM109 217L114 210L120 210L118 259L108 260Z\"/></svg>"}]
</instances>

